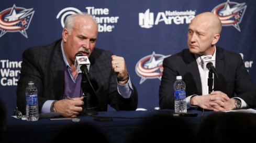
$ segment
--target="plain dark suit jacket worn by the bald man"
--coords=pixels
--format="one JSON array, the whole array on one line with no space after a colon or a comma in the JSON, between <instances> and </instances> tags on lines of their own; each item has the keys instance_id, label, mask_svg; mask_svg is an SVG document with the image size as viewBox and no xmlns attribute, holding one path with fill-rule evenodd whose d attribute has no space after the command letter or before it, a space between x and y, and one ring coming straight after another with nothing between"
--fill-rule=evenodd
<instances>
[{"instance_id":1,"label":"plain dark suit jacket worn by the bald man","mask_svg":"<svg viewBox=\"0 0 256 143\"><path fill-rule=\"evenodd\" d=\"M240 97L249 107L256 106L256 87L250 79L239 54L220 47L216 48L215 91L219 90L230 98ZM186 96L202 95L202 85L194 54L188 49L182 50L163 60L163 75L159 88L160 109L174 109L173 84L177 75L181 75L186 84Z\"/></svg>"}]
</instances>

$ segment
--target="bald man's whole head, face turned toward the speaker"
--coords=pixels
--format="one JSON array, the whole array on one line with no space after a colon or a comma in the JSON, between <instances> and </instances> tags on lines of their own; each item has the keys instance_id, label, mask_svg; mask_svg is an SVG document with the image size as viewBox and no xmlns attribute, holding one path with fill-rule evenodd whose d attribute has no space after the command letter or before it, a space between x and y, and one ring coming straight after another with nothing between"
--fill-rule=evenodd
<instances>
[{"instance_id":1,"label":"bald man's whole head, face turned toward the speaker","mask_svg":"<svg viewBox=\"0 0 256 143\"><path fill-rule=\"evenodd\" d=\"M221 32L219 18L211 12L197 15L188 26L187 44L191 53L213 55Z\"/></svg>"}]
</instances>

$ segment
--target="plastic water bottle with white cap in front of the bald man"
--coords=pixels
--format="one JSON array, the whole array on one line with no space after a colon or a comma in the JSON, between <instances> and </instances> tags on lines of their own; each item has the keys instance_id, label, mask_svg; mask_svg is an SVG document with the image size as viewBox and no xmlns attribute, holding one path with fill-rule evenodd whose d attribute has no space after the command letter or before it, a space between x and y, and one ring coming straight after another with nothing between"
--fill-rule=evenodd
<instances>
[{"instance_id":1,"label":"plastic water bottle with white cap in front of the bald man","mask_svg":"<svg viewBox=\"0 0 256 143\"><path fill-rule=\"evenodd\" d=\"M186 84L182 81L182 76L176 76L173 88L175 113L186 113Z\"/></svg>"}]
</instances>

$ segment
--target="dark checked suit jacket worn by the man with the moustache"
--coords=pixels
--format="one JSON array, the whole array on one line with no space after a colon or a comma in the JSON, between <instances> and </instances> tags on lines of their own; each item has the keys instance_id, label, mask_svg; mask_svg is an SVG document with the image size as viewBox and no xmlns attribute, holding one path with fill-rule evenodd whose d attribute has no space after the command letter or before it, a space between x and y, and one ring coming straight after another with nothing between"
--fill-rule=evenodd
<instances>
[{"instance_id":1,"label":"dark checked suit jacket worn by the man with the moustache","mask_svg":"<svg viewBox=\"0 0 256 143\"><path fill-rule=\"evenodd\" d=\"M107 111L109 104L116 110L136 110L138 105L137 89L129 99L118 94L116 74L112 70L110 51L94 48L89 60L90 81L99 99L98 111ZM24 51L20 77L17 86L17 107L25 113L25 88L29 81L34 81L38 89L39 111L47 100L63 99L64 60L61 40L46 46L31 47Z\"/></svg>"}]
</instances>

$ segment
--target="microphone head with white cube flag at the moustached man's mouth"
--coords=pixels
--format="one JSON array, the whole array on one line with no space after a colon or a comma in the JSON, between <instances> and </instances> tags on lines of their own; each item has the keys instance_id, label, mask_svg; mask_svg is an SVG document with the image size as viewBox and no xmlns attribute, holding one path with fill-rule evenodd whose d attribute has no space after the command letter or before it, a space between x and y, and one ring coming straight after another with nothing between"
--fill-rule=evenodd
<instances>
[{"instance_id":1,"label":"microphone head with white cube flag at the moustached man's mouth","mask_svg":"<svg viewBox=\"0 0 256 143\"><path fill-rule=\"evenodd\" d=\"M81 52L75 54L75 69L77 73L89 73L90 64L87 56L83 56Z\"/></svg>"}]
</instances>

